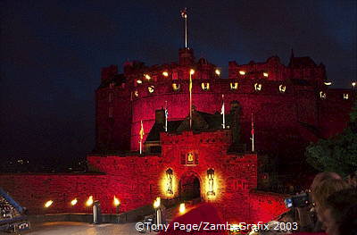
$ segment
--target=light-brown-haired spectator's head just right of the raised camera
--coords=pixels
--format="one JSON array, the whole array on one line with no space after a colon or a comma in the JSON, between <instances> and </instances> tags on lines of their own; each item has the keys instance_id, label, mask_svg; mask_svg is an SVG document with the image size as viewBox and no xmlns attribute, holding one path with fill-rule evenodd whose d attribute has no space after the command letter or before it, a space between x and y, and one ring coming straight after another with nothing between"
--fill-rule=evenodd
<instances>
[{"instance_id":1,"label":"light-brown-haired spectator's head just right of the raised camera","mask_svg":"<svg viewBox=\"0 0 357 235\"><path fill-rule=\"evenodd\" d=\"M326 200L337 191L348 189L349 185L344 180L329 179L320 182L316 188L311 191L311 197L316 206L316 211L319 215L319 210L326 206Z\"/></svg>"}]
</instances>

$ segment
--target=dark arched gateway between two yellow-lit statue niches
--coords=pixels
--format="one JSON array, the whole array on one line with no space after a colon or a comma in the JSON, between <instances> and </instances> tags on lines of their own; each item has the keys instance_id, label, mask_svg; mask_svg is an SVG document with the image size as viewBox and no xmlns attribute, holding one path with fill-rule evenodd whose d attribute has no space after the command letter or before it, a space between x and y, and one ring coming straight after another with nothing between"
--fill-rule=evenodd
<instances>
[{"instance_id":1,"label":"dark arched gateway between two yellow-lit statue niches","mask_svg":"<svg viewBox=\"0 0 357 235\"><path fill-rule=\"evenodd\" d=\"M201 183L195 172L187 172L179 180L179 197L192 200L201 197Z\"/></svg>"}]
</instances>

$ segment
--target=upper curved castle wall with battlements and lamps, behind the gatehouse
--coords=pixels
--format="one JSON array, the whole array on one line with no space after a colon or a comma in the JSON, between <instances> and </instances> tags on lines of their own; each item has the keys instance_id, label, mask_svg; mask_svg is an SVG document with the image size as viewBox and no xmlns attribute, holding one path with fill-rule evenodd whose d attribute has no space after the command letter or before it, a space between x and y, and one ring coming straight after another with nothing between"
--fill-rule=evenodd
<instances>
[{"instance_id":1,"label":"upper curved castle wall with battlements and lamps, behind the gatehouse","mask_svg":"<svg viewBox=\"0 0 357 235\"><path fill-rule=\"evenodd\" d=\"M193 105L215 113L220 112L222 95L226 104L237 100L242 105L245 141L249 141L252 113L257 128L267 134L278 128L299 132L280 131L277 134L282 139L284 135L305 135L306 141L313 141L319 135L336 134L345 127L356 96L351 89L329 88L324 65L310 57L292 55L288 65L278 56L263 63L229 62L228 78L222 78L219 67L204 58L196 60L191 48L183 48L178 63L147 66L133 61L124 63L123 73L115 65L102 70L102 82L96 90L96 149L137 150L140 123L145 140L154 125L155 110L164 106L168 107L170 121L187 117L191 69L195 70ZM226 109L229 112L229 106ZM331 122L338 123L334 124L336 128L330 127ZM304 130L306 126L313 128Z\"/></svg>"}]
</instances>

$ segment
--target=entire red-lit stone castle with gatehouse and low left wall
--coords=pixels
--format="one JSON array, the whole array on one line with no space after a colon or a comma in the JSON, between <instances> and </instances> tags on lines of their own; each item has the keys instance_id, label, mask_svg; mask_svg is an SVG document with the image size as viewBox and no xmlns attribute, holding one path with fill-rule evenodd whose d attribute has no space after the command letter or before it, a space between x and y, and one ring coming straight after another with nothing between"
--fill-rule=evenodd
<instances>
[{"instance_id":1,"label":"entire red-lit stone castle with gatehouse and low left wall","mask_svg":"<svg viewBox=\"0 0 357 235\"><path fill-rule=\"evenodd\" d=\"M114 213L114 196L124 211L155 197L201 197L228 222L269 221L285 206L278 194L256 190L267 177L258 173L258 156L278 157L286 168L301 162L310 141L345 128L353 104L352 90L328 88L324 65L293 54L287 66L277 56L265 63L229 62L225 79L216 65L195 60L190 48L179 50L179 63L147 67L134 61L123 69L104 68L96 90L96 145L87 156L95 173L0 177L30 212L49 199L54 206L47 212L84 212L93 196L104 213ZM73 198L78 205L71 206Z\"/></svg>"}]
</instances>

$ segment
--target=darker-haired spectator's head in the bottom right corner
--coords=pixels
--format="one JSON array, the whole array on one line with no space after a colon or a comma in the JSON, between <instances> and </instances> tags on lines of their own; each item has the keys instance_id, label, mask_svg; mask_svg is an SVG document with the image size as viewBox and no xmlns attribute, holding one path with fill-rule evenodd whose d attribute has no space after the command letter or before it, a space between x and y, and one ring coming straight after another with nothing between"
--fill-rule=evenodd
<instances>
[{"instance_id":1,"label":"darker-haired spectator's head in the bottom right corner","mask_svg":"<svg viewBox=\"0 0 357 235\"><path fill-rule=\"evenodd\" d=\"M323 229L328 235L356 235L357 189L344 189L332 194L321 215Z\"/></svg>"}]
</instances>

